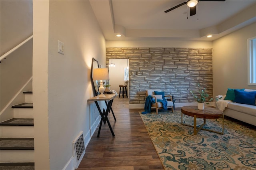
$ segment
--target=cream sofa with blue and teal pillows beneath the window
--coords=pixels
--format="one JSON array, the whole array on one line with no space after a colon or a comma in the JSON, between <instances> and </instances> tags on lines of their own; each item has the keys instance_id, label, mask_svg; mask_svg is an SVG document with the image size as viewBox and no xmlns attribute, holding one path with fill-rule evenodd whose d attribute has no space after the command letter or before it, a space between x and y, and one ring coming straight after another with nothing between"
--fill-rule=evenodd
<instances>
[{"instance_id":1,"label":"cream sofa with blue and teal pillows beneath the window","mask_svg":"<svg viewBox=\"0 0 256 170\"><path fill-rule=\"evenodd\" d=\"M256 126L256 90L228 89L216 99L216 107L224 115Z\"/></svg>"}]
</instances>

